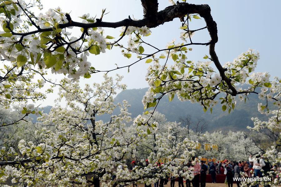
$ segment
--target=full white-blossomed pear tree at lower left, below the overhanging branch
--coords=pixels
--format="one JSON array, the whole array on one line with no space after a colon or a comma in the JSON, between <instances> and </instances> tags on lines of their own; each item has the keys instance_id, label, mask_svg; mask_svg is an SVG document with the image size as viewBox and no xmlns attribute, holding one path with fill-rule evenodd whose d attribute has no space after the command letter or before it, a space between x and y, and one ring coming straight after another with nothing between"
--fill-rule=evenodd
<instances>
[{"instance_id":1,"label":"full white-blossomed pear tree at lower left, below the overhanging branch","mask_svg":"<svg viewBox=\"0 0 281 187\"><path fill-rule=\"evenodd\" d=\"M156 136L157 152L152 151L147 157L150 165L134 168L132 172L128 170L126 159L135 157L137 147L145 143L144 140L153 139L156 129L145 127L145 130L128 131L125 122L130 122L131 117L127 101L113 103L116 91L126 88L120 84L121 76L116 77L114 81L112 77L104 76L105 81L101 84L86 84L84 89L79 86L79 81L71 83L63 79L64 86L57 102L64 98L68 107L57 104L49 114L38 119L42 122L37 124L40 128L34 132L37 141L19 135L22 139L18 140L17 149L2 147L1 183L12 179L11 182L18 186L97 187L100 183L120 186L152 183L172 171L175 176L192 179L189 170L182 170L182 164L194 155L195 142L185 138L171 144L170 140L175 138L171 130ZM116 107L120 108L120 114L112 115ZM108 122L96 119L105 114L111 116ZM20 123L22 125L22 121ZM154 165L163 158L167 159L165 165ZM116 180L112 180L113 175Z\"/></svg>"}]
</instances>

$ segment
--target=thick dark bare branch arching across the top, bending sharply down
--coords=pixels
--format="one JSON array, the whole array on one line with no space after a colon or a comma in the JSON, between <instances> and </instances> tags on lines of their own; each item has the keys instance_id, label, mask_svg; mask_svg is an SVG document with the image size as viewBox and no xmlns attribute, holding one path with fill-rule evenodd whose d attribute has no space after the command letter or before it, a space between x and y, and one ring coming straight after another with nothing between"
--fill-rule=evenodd
<instances>
[{"instance_id":1,"label":"thick dark bare branch arching across the top, bending sharply down","mask_svg":"<svg viewBox=\"0 0 281 187\"><path fill-rule=\"evenodd\" d=\"M237 91L232 86L230 80L228 77L225 76L225 69L221 66L219 59L215 52L215 43L218 42L218 30L217 30L217 24L213 20L211 16L211 9L208 5L195 5L195 4L189 4L189 3L177 3L175 5L166 7L164 10L161 10L157 12L158 10L158 2L157 0L141 0L143 9L144 9L144 18L141 20L132 20L132 19L124 19L119 22L102 22L100 20L97 20L95 23L81 23L81 22L68 22L64 24L60 24L60 28L67 28L67 27L82 27L84 29L92 28L92 27L122 27L122 26L134 26L134 27L143 27L147 26L150 28L157 27L161 24L164 24L165 22L170 22L174 18L181 18L184 17L187 14L199 14L201 17L204 18L206 22L206 27L209 31L211 40L210 40L210 48L209 53L211 56L212 61L214 62L215 66L219 70L219 74L222 77L222 80L226 82L229 89L229 94L232 96L237 95ZM26 33L14 33L13 35L21 35L21 36L27 36L30 34L35 34L38 32L45 32L45 31L53 31L53 28L45 28L45 29L38 29L36 31L32 32L26 32Z\"/></svg>"}]
</instances>

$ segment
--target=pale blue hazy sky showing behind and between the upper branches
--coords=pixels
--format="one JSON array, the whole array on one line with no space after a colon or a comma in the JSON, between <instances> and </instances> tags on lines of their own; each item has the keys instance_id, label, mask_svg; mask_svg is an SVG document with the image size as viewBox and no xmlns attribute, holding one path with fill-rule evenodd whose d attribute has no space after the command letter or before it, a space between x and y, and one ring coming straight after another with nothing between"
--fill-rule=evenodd
<instances>
[{"instance_id":1,"label":"pale blue hazy sky showing behind and between the upper branches","mask_svg":"<svg viewBox=\"0 0 281 187\"><path fill-rule=\"evenodd\" d=\"M211 14L214 21L217 22L219 42L216 44L216 52L222 64L228 61L233 61L240 53L248 48L256 49L260 52L260 60L256 71L269 72L272 76L280 76L280 53L281 53L281 37L280 37L280 7L281 1L261 1L261 0L193 0L187 1L195 4L209 4ZM127 18L129 15L137 19L142 18L143 10L140 0L42 0L44 6L43 12L48 8L61 7L64 12L71 12L72 20L80 21L78 16L84 13L90 13L91 16L97 15L100 17L102 8L106 8L110 13L107 14L103 21L115 22ZM159 0L159 10L170 6L168 0ZM197 29L204 27L203 20L193 20L190 28ZM152 34L145 37L145 41L157 46L165 48L168 42L176 39L176 42L181 42L179 35L181 30L180 20L175 19L173 22L165 23L160 27L151 29ZM108 29L105 28L106 35L118 37L120 28ZM80 34L80 30L72 29L72 34ZM77 35L78 36L78 35ZM193 42L208 42L209 35L205 31L197 32ZM122 42L127 45L126 38ZM188 53L187 57L190 60L200 60L205 54L208 54L208 47L192 47L193 51ZM118 66L130 64L136 60L132 57L127 59L121 55L120 48L108 51L105 54L98 56L91 55L89 61L92 66L99 70L107 70ZM152 52L150 48L145 48L145 52ZM134 55L133 55L134 56ZM172 63L172 62L170 62ZM144 62L130 68L130 73L127 69L116 71L124 75L123 83L127 84L128 89L147 87L145 74L148 65ZM81 78L81 84L85 82L101 82L102 74L93 75L90 79L84 80ZM47 101L42 105L53 105L53 99L56 98L56 91L52 96L49 96Z\"/></svg>"}]
</instances>

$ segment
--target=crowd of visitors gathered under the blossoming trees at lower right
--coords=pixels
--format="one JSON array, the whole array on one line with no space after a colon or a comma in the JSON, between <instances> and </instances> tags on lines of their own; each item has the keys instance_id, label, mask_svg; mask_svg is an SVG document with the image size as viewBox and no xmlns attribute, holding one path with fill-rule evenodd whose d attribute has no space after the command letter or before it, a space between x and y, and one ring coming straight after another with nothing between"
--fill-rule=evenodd
<instances>
[{"instance_id":1,"label":"crowd of visitors gathered under the blossoming trees at lower right","mask_svg":"<svg viewBox=\"0 0 281 187\"><path fill-rule=\"evenodd\" d=\"M145 160L145 164L149 165L149 161ZM155 163L158 166L163 165L164 163ZM184 182L186 183L186 187L205 187L206 186L206 176L209 174L212 178L212 183L216 183L216 175L224 175L225 183L228 184L228 187L232 187L234 183L234 178L239 177L263 177L263 175L267 175L270 170L279 170L280 167L277 165L271 165L271 163L263 158L263 155L256 155L255 158L252 155L249 156L249 160L242 161L233 161L233 160L221 160L215 162L214 160L206 162L204 160L197 160L195 157L192 157L192 160L188 162L188 164L181 165L181 169L184 170L188 167L188 169L192 170L194 178L192 180L185 180L183 177L175 178L172 174L167 176L166 178L160 178L158 181L154 183L154 187L163 187L170 180L170 187L175 186L175 182L178 181L179 187L184 187ZM131 171L136 167L136 161L131 162ZM192 169L193 168L193 169ZM243 176L241 176L241 172ZM237 186L240 186L240 181L235 181ZM133 186L137 186L133 184ZM257 185L258 186L258 185ZM150 185L145 184L145 187L151 187Z\"/></svg>"}]
</instances>

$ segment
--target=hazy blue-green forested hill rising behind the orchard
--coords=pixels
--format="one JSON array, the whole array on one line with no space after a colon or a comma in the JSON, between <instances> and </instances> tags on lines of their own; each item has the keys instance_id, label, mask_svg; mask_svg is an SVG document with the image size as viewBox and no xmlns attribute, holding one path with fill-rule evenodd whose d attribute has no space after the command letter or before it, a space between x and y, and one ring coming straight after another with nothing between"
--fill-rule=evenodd
<instances>
[{"instance_id":1,"label":"hazy blue-green forested hill rising behind the orchard","mask_svg":"<svg viewBox=\"0 0 281 187\"><path fill-rule=\"evenodd\" d=\"M144 111L144 106L141 100L146 91L147 88L122 91L115 97L114 102L122 103L123 100L127 100L131 105L131 107L129 107L129 112L134 118L137 115L142 114ZM246 130L248 125L253 126L251 117L259 117L264 121L268 120L268 117L259 113L257 107L259 102L261 102L261 100L259 100L258 95L252 94L249 95L249 100L247 99L246 103L244 101L237 101L235 110L231 111L230 114L228 111L223 112L221 110L221 104L214 106L211 114L210 110L205 113L203 107L199 103L192 104L190 101L181 102L176 96L172 102L169 102L168 97L165 96L160 100L156 111L165 114L168 121L179 121L180 117L185 117L187 115L190 115L191 120L193 121L198 118L204 118L208 122L208 130L210 131L219 129L227 131ZM49 113L50 109L51 106L47 106L41 110L44 110L45 113ZM114 114L117 114L118 112L119 111L116 109ZM32 117L34 118L35 116ZM98 116L97 118L99 120L107 121L109 116L103 115Z\"/></svg>"}]
</instances>

